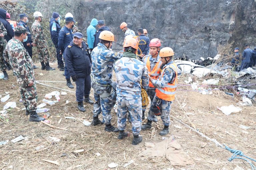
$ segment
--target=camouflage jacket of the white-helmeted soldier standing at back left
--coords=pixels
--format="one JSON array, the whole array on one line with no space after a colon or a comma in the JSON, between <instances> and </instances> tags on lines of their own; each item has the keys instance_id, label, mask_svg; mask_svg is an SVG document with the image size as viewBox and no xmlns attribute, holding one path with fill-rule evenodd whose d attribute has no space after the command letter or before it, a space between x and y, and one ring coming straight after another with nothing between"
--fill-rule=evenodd
<instances>
[{"instance_id":1,"label":"camouflage jacket of the white-helmeted soldier standing at back left","mask_svg":"<svg viewBox=\"0 0 256 170\"><path fill-rule=\"evenodd\" d=\"M43 27L37 20L35 20L35 22L32 24L31 37L32 41L37 45L37 47L40 47L42 43L46 42L44 38Z\"/></svg>"}]
</instances>

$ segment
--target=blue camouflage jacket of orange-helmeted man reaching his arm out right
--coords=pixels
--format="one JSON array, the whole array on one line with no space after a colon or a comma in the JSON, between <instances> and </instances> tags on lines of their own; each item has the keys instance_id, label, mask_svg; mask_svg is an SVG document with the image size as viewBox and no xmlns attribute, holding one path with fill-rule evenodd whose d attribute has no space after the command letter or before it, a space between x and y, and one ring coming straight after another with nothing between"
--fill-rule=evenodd
<instances>
[{"instance_id":1,"label":"blue camouflage jacket of orange-helmeted man reaching his arm out right","mask_svg":"<svg viewBox=\"0 0 256 170\"><path fill-rule=\"evenodd\" d=\"M122 56L122 53L114 52L104 44L98 43L98 46L91 53L92 81L102 86L110 85L112 82L113 63Z\"/></svg>"}]
</instances>

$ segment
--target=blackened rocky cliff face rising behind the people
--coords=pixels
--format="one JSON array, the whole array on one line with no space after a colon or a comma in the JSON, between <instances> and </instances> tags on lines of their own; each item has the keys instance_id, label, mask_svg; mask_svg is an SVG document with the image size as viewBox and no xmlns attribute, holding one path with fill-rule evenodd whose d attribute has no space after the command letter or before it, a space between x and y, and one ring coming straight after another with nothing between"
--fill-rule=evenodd
<instances>
[{"instance_id":1,"label":"blackened rocky cliff face rising behind the people","mask_svg":"<svg viewBox=\"0 0 256 170\"><path fill-rule=\"evenodd\" d=\"M170 46L175 56L200 58L215 56L218 44L235 41L256 46L254 0L105 0L81 2L75 18L86 28L92 18L104 20L112 29L116 43L122 49L122 22L137 34L145 28L150 39L159 38L162 47Z\"/></svg>"}]
</instances>

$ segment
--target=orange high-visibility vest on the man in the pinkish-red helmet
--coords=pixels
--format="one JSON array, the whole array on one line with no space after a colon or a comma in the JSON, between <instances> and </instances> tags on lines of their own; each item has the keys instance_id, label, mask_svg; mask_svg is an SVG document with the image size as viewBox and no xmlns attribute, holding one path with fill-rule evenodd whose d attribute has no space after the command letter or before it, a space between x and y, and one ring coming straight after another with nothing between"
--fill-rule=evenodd
<instances>
[{"instance_id":1,"label":"orange high-visibility vest on the man in the pinkish-red helmet","mask_svg":"<svg viewBox=\"0 0 256 170\"><path fill-rule=\"evenodd\" d=\"M147 66L147 69L148 69L148 75L152 78L152 79L155 79L157 80L158 77L161 75L160 73L160 67L162 65L162 61L160 61L160 59L157 61L156 65L154 66L153 70L151 71L151 68L150 68L150 61L149 61L149 58L150 56L147 57L147 61L146 61L146 57L144 58L144 63L146 63L146 66ZM149 81L149 87L155 87L151 81Z\"/></svg>"}]
</instances>

